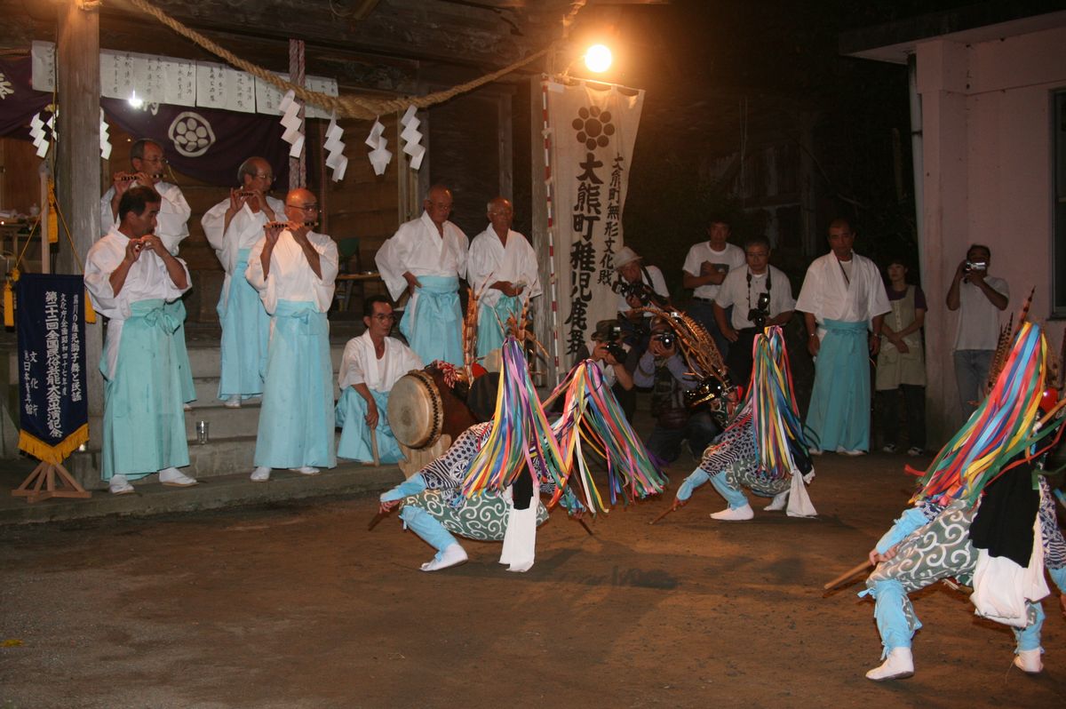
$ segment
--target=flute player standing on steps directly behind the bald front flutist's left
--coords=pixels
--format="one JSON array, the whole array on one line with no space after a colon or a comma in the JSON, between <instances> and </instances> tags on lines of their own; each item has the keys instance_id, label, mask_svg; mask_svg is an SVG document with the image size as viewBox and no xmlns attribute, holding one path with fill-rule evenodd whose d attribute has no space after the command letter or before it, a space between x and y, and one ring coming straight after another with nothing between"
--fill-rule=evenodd
<instances>
[{"instance_id":1,"label":"flute player standing on steps directly behind the bald front flutist's left","mask_svg":"<svg viewBox=\"0 0 1066 709\"><path fill-rule=\"evenodd\" d=\"M274 171L263 158L248 158L237 171L241 187L229 191L229 198L212 207L200 224L214 248L226 278L219 297L219 322L222 324L222 376L219 399L230 408L241 400L261 397L270 316L259 293L244 272L252 247L263 238L263 226L285 219L285 203L270 196Z\"/></svg>"}]
</instances>

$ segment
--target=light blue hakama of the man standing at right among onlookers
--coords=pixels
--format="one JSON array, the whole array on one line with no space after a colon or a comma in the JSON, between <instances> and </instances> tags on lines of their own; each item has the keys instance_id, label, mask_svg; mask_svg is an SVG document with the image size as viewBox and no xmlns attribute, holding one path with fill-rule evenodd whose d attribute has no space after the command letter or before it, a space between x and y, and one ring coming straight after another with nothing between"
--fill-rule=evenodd
<instances>
[{"instance_id":1,"label":"light blue hakama of the man standing at right among onlookers","mask_svg":"<svg viewBox=\"0 0 1066 709\"><path fill-rule=\"evenodd\" d=\"M807 440L824 451L870 450L867 323L825 320L807 409Z\"/></svg>"}]
</instances>

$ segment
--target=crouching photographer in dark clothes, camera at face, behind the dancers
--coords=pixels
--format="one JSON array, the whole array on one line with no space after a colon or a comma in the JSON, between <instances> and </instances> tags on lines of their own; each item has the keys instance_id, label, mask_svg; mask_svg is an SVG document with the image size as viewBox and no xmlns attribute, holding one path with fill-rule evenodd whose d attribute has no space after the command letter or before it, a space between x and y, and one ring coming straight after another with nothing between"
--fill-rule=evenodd
<instances>
[{"instance_id":1,"label":"crouching photographer in dark clothes, camera at face, behind the dancers","mask_svg":"<svg viewBox=\"0 0 1066 709\"><path fill-rule=\"evenodd\" d=\"M633 372L633 383L651 387L656 428L645 441L648 452L673 463L681 454L681 441L688 439L692 455L699 460L722 430L706 409L685 406L684 392L699 384L698 372L689 373L674 331L661 320L651 326L651 339Z\"/></svg>"}]
</instances>

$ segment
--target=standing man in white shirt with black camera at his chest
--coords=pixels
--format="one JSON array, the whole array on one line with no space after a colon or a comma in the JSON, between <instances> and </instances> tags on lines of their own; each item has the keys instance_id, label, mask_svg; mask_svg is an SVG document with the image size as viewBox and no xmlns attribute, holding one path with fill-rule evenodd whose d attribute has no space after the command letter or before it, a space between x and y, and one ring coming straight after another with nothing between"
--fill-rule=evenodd
<instances>
[{"instance_id":1,"label":"standing man in white shirt with black camera at his chest","mask_svg":"<svg viewBox=\"0 0 1066 709\"><path fill-rule=\"evenodd\" d=\"M764 327L785 325L792 319L795 301L792 285L780 270L770 265L770 242L754 237L744 243L747 268L737 269L722 281L714 302L714 320L729 340L726 365L729 376L742 387L752 378L752 343ZM726 308L732 307L732 317Z\"/></svg>"}]
</instances>

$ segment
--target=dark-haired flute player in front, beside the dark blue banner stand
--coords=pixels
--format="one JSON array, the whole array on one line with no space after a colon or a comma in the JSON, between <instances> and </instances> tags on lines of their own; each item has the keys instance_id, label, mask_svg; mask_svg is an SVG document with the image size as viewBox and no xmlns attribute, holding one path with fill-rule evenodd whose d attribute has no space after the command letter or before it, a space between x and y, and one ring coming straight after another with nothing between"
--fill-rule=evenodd
<instances>
[{"instance_id":1,"label":"dark-haired flute player in front, beside the dark blue banner stand","mask_svg":"<svg viewBox=\"0 0 1066 709\"><path fill-rule=\"evenodd\" d=\"M160 202L150 188L123 190L118 226L85 258L85 287L109 319L100 472L115 495L132 493L130 480L155 472L164 485L196 484L178 470L189 465L174 343L179 322L163 307L189 290L189 270L154 233Z\"/></svg>"}]
</instances>

